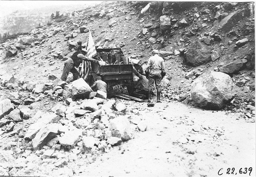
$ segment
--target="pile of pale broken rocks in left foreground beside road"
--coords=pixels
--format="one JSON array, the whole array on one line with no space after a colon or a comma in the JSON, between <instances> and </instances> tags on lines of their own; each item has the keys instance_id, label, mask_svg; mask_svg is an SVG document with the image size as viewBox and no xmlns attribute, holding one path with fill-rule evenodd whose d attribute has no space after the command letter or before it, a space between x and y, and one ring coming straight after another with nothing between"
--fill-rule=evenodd
<instances>
[{"instance_id":1,"label":"pile of pale broken rocks in left foreground beside road","mask_svg":"<svg viewBox=\"0 0 256 177\"><path fill-rule=\"evenodd\" d=\"M18 106L13 104L17 102L15 100L6 98L0 101L0 104L5 105L0 110L1 135L14 136L19 139L18 142L31 144L31 147L20 147L13 151L13 155L21 161L55 159L51 163L56 167L63 167L78 159L80 154L91 154L87 158L91 163L98 154L108 152L112 146L134 138L134 131L147 130L147 125L135 115L138 112L131 112L123 103L96 97L83 98L85 93L88 96L87 92L91 92L85 83L77 87L74 82L68 85L59 78L50 76L47 81L24 82L17 89L20 90L19 95L28 91L37 96L30 96L29 99L22 96L23 101ZM63 96L65 91L70 92L68 98ZM50 112L37 111L34 114L31 104L47 97L63 103L52 107ZM27 108L21 108L21 105ZM137 121L134 122L134 119ZM27 128L20 127L18 123L27 120L34 123ZM11 149L10 146L7 148ZM19 160L16 160L17 164L20 163ZM22 174L17 172L18 167L15 169L16 167L11 171L6 169L7 174Z\"/></svg>"}]
</instances>

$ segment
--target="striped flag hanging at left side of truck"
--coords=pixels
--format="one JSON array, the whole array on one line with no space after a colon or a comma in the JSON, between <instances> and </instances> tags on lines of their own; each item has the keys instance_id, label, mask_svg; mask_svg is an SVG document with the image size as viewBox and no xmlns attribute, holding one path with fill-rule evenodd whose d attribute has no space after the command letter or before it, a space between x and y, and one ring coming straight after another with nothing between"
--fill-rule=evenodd
<instances>
[{"instance_id":1,"label":"striped flag hanging at left side of truck","mask_svg":"<svg viewBox=\"0 0 256 177\"><path fill-rule=\"evenodd\" d=\"M89 34L87 37L87 44L86 44L86 48L87 50L87 57L93 57L93 55L95 55L96 49L95 49L95 45L93 42L93 36L91 35L91 31L89 30ZM82 63L82 70L80 72L80 75L83 77L83 79L86 80L86 78L89 75L89 71L91 71L91 63L89 61L83 61Z\"/></svg>"}]
</instances>

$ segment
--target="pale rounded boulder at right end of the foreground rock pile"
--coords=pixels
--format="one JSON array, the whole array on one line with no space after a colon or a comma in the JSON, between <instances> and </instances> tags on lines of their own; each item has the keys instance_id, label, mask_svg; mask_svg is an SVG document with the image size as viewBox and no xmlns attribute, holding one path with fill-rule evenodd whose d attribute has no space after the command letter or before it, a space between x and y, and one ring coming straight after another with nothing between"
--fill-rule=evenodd
<instances>
[{"instance_id":1,"label":"pale rounded boulder at right end of the foreground rock pile","mask_svg":"<svg viewBox=\"0 0 256 177\"><path fill-rule=\"evenodd\" d=\"M111 135L127 141L132 138L132 127L130 121L124 116L113 118L109 121Z\"/></svg>"}]
</instances>

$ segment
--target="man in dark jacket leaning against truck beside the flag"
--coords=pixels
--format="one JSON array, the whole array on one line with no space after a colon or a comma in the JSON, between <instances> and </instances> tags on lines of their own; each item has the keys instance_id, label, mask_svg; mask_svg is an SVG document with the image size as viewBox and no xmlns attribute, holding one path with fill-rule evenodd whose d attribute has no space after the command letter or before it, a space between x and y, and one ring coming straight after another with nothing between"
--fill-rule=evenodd
<instances>
[{"instance_id":1,"label":"man in dark jacket leaning against truck beside the flag","mask_svg":"<svg viewBox=\"0 0 256 177\"><path fill-rule=\"evenodd\" d=\"M67 59L64 63L64 68L61 75L61 80L63 81L67 80L67 77L69 76L69 72L73 74L72 82L78 79L79 72L78 70L76 70L76 68L79 67L79 65L82 63L83 60L98 62L98 60L86 57L87 51L82 50L82 45L81 45L82 42L77 42L77 43L78 43L78 46L76 46L75 48L76 52L74 52L73 55L69 59Z\"/></svg>"}]
</instances>

